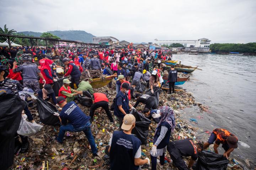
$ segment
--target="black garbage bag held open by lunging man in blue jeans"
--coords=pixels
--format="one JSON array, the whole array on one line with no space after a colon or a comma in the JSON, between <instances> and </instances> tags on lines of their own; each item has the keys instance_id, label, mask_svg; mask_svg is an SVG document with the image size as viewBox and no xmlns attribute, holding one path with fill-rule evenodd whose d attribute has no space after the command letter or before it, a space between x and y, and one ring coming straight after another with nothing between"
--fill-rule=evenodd
<instances>
[{"instance_id":1,"label":"black garbage bag held open by lunging man in blue jeans","mask_svg":"<svg viewBox=\"0 0 256 170\"><path fill-rule=\"evenodd\" d=\"M40 121L45 125L60 125L59 118L53 115L53 112L58 112L55 106L43 100L41 98L37 98L37 111L40 117Z\"/></svg>"}]
</instances>

